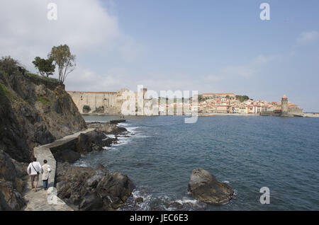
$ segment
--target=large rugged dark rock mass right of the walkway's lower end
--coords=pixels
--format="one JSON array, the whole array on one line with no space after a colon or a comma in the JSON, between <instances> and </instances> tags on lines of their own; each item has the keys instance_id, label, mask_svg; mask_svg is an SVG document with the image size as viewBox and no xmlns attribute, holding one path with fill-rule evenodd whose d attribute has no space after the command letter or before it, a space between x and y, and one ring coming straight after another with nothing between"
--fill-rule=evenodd
<instances>
[{"instance_id":1,"label":"large rugged dark rock mass right of the walkway's lower end","mask_svg":"<svg viewBox=\"0 0 319 225\"><path fill-rule=\"evenodd\" d=\"M125 204L134 189L121 173L109 173L101 164L91 167L57 163L57 196L76 210L114 210Z\"/></svg>"}]
</instances>

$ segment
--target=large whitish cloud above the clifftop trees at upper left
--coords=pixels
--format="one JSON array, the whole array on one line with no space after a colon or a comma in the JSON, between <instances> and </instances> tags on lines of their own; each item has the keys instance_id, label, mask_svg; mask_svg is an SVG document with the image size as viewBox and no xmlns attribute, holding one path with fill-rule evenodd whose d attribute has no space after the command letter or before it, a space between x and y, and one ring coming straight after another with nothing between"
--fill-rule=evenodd
<instances>
[{"instance_id":1,"label":"large whitish cloud above the clifftop trees at upper left","mask_svg":"<svg viewBox=\"0 0 319 225\"><path fill-rule=\"evenodd\" d=\"M140 46L121 31L116 16L100 0L53 2L57 21L47 19L50 1L0 1L1 55L19 59L28 69L33 68L34 57L46 57L52 46L60 44L69 45L78 58L108 51L118 52L123 59L138 57Z\"/></svg>"}]
</instances>

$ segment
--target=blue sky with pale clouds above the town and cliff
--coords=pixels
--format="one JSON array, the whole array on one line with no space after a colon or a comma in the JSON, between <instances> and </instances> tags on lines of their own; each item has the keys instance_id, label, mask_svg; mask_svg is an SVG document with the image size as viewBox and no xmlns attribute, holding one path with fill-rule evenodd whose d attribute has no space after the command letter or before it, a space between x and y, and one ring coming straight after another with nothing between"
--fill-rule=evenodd
<instances>
[{"instance_id":1,"label":"blue sky with pale clouds above the town and cliff","mask_svg":"<svg viewBox=\"0 0 319 225\"><path fill-rule=\"evenodd\" d=\"M50 3L56 21L47 19ZM319 112L318 0L0 1L0 56L36 72L33 59L61 44L77 56L67 91L286 94Z\"/></svg>"}]
</instances>

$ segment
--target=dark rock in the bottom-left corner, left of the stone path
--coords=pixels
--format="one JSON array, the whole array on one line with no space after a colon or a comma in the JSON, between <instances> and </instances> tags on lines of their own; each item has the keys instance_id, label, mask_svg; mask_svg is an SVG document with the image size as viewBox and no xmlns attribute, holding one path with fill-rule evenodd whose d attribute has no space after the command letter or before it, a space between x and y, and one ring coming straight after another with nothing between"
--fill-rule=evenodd
<instances>
[{"instance_id":1,"label":"dark rock in the bottom-left corner, left of the stone path","mask_svg":"<svg viewBox=\"0 0 319 225\"><path fill-rule=\"evenodd\" d=\"M20 210L25 205L22 195L13 188L13 183L0 181L1 210Z\"/></svg>"}]
</instances>

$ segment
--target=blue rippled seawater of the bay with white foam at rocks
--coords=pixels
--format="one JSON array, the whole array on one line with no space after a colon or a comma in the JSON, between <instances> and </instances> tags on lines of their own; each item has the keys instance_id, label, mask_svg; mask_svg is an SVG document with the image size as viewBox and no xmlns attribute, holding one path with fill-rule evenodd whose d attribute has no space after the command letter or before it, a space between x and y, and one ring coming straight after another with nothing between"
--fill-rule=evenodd
<instances>
[{"instance_id":1,"label":"blue rippled seawater of the bay with white foam at rocks","mask_svg":"<svg viewBox=\"0 0 319 225\"><path fill-rule=\"evenodd\" d=\"M84 116L86 121L116 116ZM105 151L83 156L74 165L98 163L128 175L134 197L121 210L318 210L319 119L301 117L126 117L119 126L130 134ZM227 182L235 197L228 204L195 200L187 191L194 168ZM270 190L261 204L260 188Z\"/></svg>"}]
</instances>

